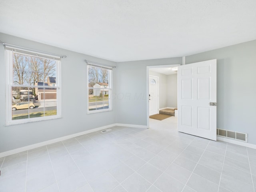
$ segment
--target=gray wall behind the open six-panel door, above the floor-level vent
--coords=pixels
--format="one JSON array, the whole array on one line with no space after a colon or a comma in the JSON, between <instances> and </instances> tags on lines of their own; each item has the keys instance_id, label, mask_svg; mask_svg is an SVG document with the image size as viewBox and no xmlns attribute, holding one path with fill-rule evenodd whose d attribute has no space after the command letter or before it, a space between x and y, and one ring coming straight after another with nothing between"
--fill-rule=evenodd
<instances>
[{"instance_id":1,"label":"gray wall behind the open six-panel door, above the floor-level vent","mask_svg":"<svg viewBox=\"0 0 256 192\"><path fill-rule=\"evenodd\" d=\"M256 144L256 40L186 57L217 59L217 128L248 133Z\"/></svg>"}]
</instances>

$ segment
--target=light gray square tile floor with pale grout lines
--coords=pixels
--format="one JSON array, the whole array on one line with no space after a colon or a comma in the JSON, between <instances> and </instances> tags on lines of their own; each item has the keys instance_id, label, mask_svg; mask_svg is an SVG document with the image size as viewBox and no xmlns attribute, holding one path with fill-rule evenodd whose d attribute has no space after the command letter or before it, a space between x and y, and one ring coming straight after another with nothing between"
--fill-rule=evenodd
<instances>
[{"instance_id":1,"label":"light gray square tile floor with pale grout lines","mask_svg":"<svg viewBox=\"0 0 256 192\"><path fill-rule=\"evenodd\" d=\"M150 119L0 158L0 192L256 192L256 150L176 127Z\"/></svg>"}]
</instances>

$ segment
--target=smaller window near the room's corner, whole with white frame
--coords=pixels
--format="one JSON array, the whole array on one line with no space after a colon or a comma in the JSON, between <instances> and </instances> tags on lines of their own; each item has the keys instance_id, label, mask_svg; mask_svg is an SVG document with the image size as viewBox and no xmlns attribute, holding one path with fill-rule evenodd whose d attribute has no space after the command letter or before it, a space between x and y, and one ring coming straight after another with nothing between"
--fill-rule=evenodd
<instances>
[{"instance_id":1,"label":"smaller window near the room's corner, whole with white frame","mask_svg":"<svg viewBox=\"0 0 256 192\"><path fill-rule=\"evenodd\" d=\"M88 113L112 110L111 79L112 69L87 64L88 70Z\"/></svg>"}]
</instances>

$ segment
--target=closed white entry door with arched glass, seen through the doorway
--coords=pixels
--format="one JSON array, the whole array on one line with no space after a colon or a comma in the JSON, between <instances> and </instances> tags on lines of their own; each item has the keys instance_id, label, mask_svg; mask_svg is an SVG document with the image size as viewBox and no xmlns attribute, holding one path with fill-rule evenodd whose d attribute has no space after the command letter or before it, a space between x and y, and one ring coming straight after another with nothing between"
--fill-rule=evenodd
<instances>
[{"instance_id":1,"label":"closed white entry door with arched glass, seen through the doorway","mask_svg":"<svg viewBox=\"0 0 256 192\"><path fill-rule=\"evenodd\" d=\"M149 76L149 115L158 114L158 77Z\"/></svg>"}]
</instances>

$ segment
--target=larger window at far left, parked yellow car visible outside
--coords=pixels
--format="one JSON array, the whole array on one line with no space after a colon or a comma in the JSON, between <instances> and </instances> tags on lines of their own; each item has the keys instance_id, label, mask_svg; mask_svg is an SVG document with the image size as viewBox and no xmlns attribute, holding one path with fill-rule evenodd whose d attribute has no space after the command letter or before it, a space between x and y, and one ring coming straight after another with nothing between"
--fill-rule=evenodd
<instances>
[{"instance_id":1,"label":"larger window at far left, parked yellow car visible outside","mask_svg":"<svg viewBox=\"0 0 256 192\"><path fill-rule=\"evenodd\" d=\"M60 117L60 57L6 46L6 124Z\"/></svg>"}]
</instances>

